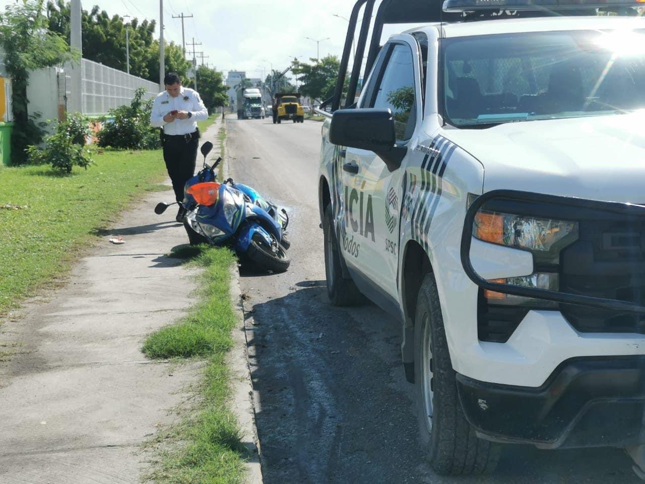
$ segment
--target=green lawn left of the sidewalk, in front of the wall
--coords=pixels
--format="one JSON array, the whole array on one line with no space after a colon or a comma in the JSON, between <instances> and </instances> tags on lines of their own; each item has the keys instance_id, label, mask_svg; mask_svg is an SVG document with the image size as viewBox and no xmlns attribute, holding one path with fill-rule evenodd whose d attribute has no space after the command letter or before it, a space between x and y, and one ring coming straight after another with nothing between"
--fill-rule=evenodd
<instances>
[{"instance_id":1,"label":"green lawn left of the sidewalk, in front of the wall","mask_svg":"<svg viewBox=\"0 0 645 484\"><path fill-rule=\"evenodd\" d=\"M166 176L161 150L94 151L95 165L0 169L0 315L52 287L119 210ZM8 207L8 208L3 208Z\"/></svg>"}]
</instances>

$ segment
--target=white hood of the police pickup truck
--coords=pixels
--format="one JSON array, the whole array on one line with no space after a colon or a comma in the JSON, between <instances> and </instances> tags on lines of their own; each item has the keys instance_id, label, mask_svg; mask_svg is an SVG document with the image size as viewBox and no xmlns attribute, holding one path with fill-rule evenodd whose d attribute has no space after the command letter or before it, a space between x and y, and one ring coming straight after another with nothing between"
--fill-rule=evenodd
<instances>
[{"instance_id":1,"label":"white hood of the police pickup truck","mask_svg":"<svg viewBox=\"0 0 645 484\"><path fill-rule=\"evenodd\" d=\"M484 166L484 192L645 203L645 111L506 123L442 135Z\"/></svg>"}]
</instances>

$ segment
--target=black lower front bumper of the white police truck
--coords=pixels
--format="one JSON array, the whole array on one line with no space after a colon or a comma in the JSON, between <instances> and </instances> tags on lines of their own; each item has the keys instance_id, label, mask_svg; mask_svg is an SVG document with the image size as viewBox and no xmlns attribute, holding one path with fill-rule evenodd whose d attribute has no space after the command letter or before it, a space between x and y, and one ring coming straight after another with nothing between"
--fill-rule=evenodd
<instances>
[{"instance_id":1,"label":"black lower front bumper of the white police truck","mask_svg":"<svg viewBox=\"0 0 645 484\"><path fill-rule=\"evenodd\" d=\"M569 359L539 388L457 374L457 388L484 439L542 449L645 443L645 356Z\"/></svg>"}]
</instances>

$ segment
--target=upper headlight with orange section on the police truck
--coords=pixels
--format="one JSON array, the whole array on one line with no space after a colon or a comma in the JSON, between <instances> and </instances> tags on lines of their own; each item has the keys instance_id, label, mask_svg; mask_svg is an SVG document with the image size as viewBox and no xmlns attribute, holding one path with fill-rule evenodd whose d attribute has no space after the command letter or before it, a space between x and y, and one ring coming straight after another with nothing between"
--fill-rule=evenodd
<instances>
[{"instance_id":1,"label":"upper headlight with orange section on the police truck","mask_svg":"<svg viewBox=\"0 0 645 484\"><path fill-rule=\"evenodd\" d=\"M473 236L484 242L551 252L578 236L578 223L479 210Z\"/></svg>"}]
</instances>

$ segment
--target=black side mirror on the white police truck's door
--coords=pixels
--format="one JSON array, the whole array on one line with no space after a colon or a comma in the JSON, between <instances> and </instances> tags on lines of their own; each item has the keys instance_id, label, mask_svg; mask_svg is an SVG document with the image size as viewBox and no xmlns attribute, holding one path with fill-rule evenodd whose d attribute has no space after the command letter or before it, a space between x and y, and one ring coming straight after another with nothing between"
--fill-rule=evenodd
<instances>
[{"instance_id":1,"label":"black side mirror on the white police truck's door","mask_svg":"<svg viewBox=\"0 0 645 484\"><path fill-rule=\"evenodd\" d=\"M375 152L391 172L401 166L405 148L396 145L394 117L389 109L342 109L332 116L329 141Z\"/></svg>"}]
</instances>

